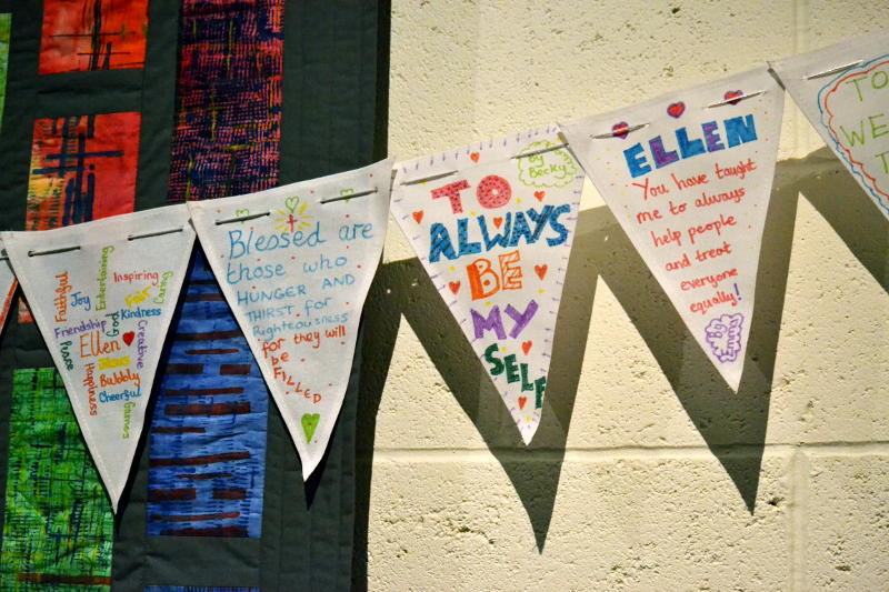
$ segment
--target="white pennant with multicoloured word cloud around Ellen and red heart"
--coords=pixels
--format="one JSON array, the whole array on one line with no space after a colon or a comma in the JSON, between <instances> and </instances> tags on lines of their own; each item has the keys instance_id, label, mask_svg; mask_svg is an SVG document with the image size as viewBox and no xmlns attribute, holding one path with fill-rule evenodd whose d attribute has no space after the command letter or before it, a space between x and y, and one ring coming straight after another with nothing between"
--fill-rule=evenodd
<instances>
[{"instance_id":1,"label":"white pennant with multicoloured word cloud around Ellen and red heart","mask_svg":"<svg viewBox=\"0 0 889 592\"><path fill-rule=\"evenodd\" d=\"M2 240L117 511L194 243L188 208Z\"/></svg>"}]
</instances>

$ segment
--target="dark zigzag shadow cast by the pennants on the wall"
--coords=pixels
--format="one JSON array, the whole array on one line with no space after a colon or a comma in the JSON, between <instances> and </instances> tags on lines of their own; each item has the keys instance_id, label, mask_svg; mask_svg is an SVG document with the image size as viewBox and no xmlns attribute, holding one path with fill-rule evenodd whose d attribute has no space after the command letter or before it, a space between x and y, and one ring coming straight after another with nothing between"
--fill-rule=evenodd
<instances>
[{"instance_id":1,"label":"dark zigzag shadow cast by the pennants on the wall","mask_svg":"<svg viewBox=\"0 0 889 592\"><path fill-rule=\"evenodd\" d=\"M852 177L822 149L778 163L765 229L745 378L736 395L681 322L657 280L605 208L580 213L556 327L543 417L532 443L518 430L418 259L380 267L367 302L358 424L356 588L366 588L376 415L400 317L410 323L460 407L516 488L542 552L565 456L601 277L653 353L689 418L752 513L796 219L802 192L862 264L889 289L889 224ZM363 583L362 583L363 582Z\"/></svg>"}]
</instances>

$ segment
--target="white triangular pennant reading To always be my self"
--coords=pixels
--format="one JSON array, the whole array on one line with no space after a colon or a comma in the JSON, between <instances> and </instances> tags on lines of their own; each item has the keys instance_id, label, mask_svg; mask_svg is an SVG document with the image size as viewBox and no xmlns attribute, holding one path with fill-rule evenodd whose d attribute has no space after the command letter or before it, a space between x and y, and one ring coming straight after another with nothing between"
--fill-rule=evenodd
<instances>
[{"instance_id":1,"label":"white triangular pennant reading To always be my self","mask_svg":"<svg viewBox=\"0 0 889 592\"><path fill-rule=\"evenodd\" d=\"M556 126L401 162L392 214L526 444L540 425L583 173Z\"/></svg>"}]
</instances>

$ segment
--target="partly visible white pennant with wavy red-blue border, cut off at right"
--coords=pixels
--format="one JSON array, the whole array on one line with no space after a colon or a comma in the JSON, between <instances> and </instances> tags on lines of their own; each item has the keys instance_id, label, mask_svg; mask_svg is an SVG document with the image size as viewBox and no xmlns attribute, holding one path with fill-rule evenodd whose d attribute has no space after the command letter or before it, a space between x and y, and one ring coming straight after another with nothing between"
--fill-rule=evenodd
<instances>
[{"instance_id":1,"label":"partly visible white pennant with wavy red-blue border, cut off at right","mask_svg":"<svg viewBox=\"0 0 889 592\"><path fill-rule=\"evenodd\" d=\"M889 218L889 30L770 64Z\"/></svg>"}]
</instances>

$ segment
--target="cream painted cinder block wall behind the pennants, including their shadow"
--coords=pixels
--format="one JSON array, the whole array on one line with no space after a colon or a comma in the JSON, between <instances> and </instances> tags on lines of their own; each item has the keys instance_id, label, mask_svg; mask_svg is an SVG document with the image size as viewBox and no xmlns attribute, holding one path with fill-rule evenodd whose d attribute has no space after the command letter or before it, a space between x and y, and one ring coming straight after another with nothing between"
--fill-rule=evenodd
<instances>
[{"instance_id":1,"label":"cream painted cinder block wall behind the pennants, including their shadow","mask_svg":"<svg viewBox=\"0 0 889 592\"><path fill-rule=\"evenodd\" d=\"M389 152L880 27L886 1L394 0ZM364 343L368 589L889 590L889 225L790 98L740 393L589 183L578 232L526 450L390 224Z\"/></svg>"}]
</instances>

